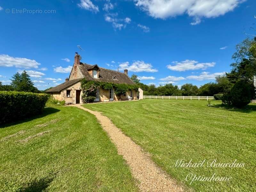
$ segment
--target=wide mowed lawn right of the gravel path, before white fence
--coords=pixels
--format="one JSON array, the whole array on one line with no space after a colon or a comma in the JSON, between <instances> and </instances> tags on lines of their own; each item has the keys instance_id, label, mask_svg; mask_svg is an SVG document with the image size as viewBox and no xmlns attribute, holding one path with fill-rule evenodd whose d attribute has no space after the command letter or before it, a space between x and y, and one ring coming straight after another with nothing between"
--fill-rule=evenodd
<instances>
[{"instance_id":1,"label":"wide mowed lawn right of the gravel path, before white fence","mask_svg":"<svg viewBox=\"0 0 256 192\"><path fill-rule=\"evenodd\" d=\"M220 101L212 101L220 104ZM247 109L207 107L202 100L140 100L87 104L131 137L171 177L195 191L256 191L256 105ZM175 167L179 159L202 167ZM207 167L207 162L244 167ZM229 182L186 181L186 176L232 177ZM189 180L189 177L188 177Z\"/></svg>"}]
</instances>

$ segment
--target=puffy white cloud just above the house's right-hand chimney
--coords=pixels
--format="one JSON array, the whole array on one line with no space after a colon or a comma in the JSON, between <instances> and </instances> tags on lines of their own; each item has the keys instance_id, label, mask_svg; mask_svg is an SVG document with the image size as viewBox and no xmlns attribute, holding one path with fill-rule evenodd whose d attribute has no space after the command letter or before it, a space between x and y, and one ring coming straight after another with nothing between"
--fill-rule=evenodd
<instances>
[{"instance_id":1,"label":"puffy white cloud just above the house's right-hand chimney","mask_svg":"<svg viewBox=\"0 0 256 192\"><path fill-rule=\"evenodd\" d=\"M129 62L124 62L119 64L119 69L124 70L128 69L128 71L133 72L157 72L157 69L152 69L152 65L150 63L145 63L144 61L133 61L133 63L130 65Z\"/></svg>"}]
</instances>

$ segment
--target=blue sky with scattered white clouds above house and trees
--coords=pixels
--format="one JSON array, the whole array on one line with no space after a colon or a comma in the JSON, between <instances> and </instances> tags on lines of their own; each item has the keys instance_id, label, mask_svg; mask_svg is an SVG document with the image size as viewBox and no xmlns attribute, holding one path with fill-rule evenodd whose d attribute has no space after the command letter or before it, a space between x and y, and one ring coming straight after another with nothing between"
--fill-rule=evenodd
<instances>
[{"instance_id":1,"label":"blue sky with scattered white clouds above house and trees","mask_svg":"<svg viewBox=\"0 0 256 192\"><path fill-rule=\"evenodd\" d=\"M144 84L200 86L230 71L235 45L253 32L255 7L254 0L0 0L0 81L10 84L25 69L38 89L56 86L79 52L82 62L127 68Z\"/></svg>"}]
</instances>

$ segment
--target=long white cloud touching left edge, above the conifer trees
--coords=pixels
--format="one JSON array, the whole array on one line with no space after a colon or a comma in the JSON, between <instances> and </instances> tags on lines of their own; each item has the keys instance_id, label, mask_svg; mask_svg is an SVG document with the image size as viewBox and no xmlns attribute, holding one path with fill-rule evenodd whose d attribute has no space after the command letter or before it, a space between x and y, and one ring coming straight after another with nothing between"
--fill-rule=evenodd
<instances>
[{"instance_id":1,"label":"long white cloud touching left edge, above the conifer trees","mask_svg":"<svg viewBox=\"0 0 256 192\"><path fill-rule=\"evenodd\" d=\"M17 67L17 68L38 68L41 65L36 60L27 58L11 57L9 55L0 55L0 66L2 67Z\"/></svg>"}]
</instances>

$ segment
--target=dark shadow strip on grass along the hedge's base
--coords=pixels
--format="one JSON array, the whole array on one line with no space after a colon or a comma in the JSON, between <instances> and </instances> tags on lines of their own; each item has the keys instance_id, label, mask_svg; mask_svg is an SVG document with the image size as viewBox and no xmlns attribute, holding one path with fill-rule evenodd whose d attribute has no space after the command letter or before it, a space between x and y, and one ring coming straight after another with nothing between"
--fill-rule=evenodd
<instances>
[{"instance_id":1,"label":"dark shadow strip on grass along the hedge's base","mask_svg":"<svg viewBox=\"0 0 256 192\"><path fill-rule=\"evenodd\" d=\"M25 122L28 122L28 121L32 121L34 119L41 118L41 117L44 117L44 116L47 116L47 115L51 115L51 114L57 113L59 111L60 110L56 109L56 108L46 107L46 108L44 108L43 113L41 113L39 115L35 115L35 116L28 117L28 118L18 120L18 121L14 120L15 122L8 122L6 124L0 124L0 128L5 128L5 127L13 126L13 125L16 125L16 124L21 124L21 123L25 123Z\"/></svg>"}]
</instances>

